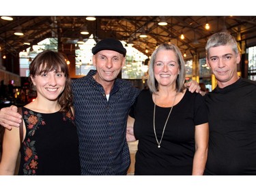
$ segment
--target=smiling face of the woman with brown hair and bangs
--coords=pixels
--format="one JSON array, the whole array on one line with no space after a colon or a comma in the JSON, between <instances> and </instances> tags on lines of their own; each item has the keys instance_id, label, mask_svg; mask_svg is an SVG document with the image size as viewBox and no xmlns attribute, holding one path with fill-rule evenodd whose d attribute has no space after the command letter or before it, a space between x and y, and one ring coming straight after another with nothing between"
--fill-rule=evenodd
<instances>
[{"instance_id":1,"label":"smiling face of the woman with brown hair and bangs","mask_svg":"<svg viewBox=\"0 0 256 191\"><path fill-rule=\"evenodd\" d=\"M42 65L40 66L42 70ZM57 101L59 94L63 92L66 84L66 77L63 72L51 70L31 76L31 82L36 87L37 99L47 99L49 101Z\"/></svg>"}]
</instances>

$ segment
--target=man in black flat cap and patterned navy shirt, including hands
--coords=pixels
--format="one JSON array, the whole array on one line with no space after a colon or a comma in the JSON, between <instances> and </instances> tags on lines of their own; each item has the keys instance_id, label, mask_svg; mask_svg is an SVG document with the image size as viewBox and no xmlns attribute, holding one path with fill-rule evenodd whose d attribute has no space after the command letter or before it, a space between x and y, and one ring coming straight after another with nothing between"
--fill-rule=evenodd
<instances>
[{"instance_id":1,"label":"man in black flat cap and patterned navy shirt, including hands","mask_svg":"<svg viewBox=\"0 0 256 191\"><path fill-rule=\"evenodd\" d=\"M119 40L102 39L91 51L96 70L72 82L81 174L126 175L130 166L126 123L140 90L117 78L126 63L126 49ZM187 86L192 92L199 91L195 81ZM19 126L15 107L0 111L5 128Z\"/></svg>"}]
</instances>

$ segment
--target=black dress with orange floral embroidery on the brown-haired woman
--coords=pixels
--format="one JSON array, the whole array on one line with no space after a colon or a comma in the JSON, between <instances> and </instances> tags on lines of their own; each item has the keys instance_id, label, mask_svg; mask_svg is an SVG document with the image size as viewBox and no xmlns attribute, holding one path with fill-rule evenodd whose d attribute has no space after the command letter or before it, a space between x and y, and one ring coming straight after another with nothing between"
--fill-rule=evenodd
<instances>
[{"instance_id":1,"label":"black dress with orange floral embroidery on the brown-haired woman","mask_svg":"<svg viewBox=\"0 0 256 191\"><path fill-rule=\"evenodd\" d=\"M79 139L72 113L22 109L27 132L20 147L18 175L80 175Z\"/></svg>"}]
</instances>

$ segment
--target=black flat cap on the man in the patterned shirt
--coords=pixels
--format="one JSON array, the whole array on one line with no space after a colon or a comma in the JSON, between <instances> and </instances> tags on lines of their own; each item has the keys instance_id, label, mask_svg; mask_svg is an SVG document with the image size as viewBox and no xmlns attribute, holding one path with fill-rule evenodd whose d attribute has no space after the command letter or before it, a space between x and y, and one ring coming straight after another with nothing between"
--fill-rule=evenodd
<instances>
[{"instance_id":1,"label":"black flat cap on the man in the patterned shirt","mask_svg":"<svg viewBox=\"0 0 256 191\"><path fill-rule=\"evenodd\" d=\"M107 38L107 39L102 39L101 41L98 41L96 46L94 46L94 48L91 49L91 52L92 54L96 54L101 50L114 50L126 56L126 49L122 45L121 41L113 38Z\"/></svg>"}]
</instances>

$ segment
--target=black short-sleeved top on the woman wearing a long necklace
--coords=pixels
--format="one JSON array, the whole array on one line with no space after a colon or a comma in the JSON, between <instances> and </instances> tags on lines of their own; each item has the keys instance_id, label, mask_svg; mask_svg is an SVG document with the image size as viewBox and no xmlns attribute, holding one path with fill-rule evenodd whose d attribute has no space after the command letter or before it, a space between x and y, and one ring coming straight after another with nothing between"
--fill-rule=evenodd
<instances>
[{"instance_id":1,"label":"black short-sleeved top on the woman wearing a long necklace","mask_svg":"<svg viewBox=\"0 0 256 191\"><path fill-rule=\"evenodd\" d=\"M156 105L156 135L160 141L171 107ZM208 122L201 94L186 91L173 106L158 148L154 135L154 102L150 90L142 90L130 111L135 118L134 135L139 140L135 175L191 175L195 154L195 126Z\"/></svg>"}]
</instances>

